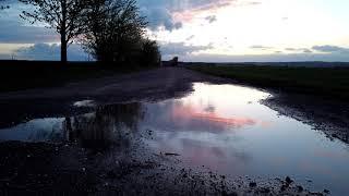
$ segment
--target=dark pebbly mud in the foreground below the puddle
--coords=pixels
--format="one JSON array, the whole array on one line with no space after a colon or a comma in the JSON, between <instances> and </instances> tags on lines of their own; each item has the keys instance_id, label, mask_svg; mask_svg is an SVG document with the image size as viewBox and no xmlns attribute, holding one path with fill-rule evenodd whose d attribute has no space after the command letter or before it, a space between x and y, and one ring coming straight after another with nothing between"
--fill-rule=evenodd
<instances>
[{"instance_id":1,"label":"dark pebbly mud in the foreground below the puddle","mask_svg":"<svg viewBox=\"0 0 349 196\"><path fill-rule=\"evenodd\" d=\"M323 195L296 182L228 179L183 168L176 158L137 147L92 151L75 144L0 144L3 195Z\"/></svg>"}]
</instances>

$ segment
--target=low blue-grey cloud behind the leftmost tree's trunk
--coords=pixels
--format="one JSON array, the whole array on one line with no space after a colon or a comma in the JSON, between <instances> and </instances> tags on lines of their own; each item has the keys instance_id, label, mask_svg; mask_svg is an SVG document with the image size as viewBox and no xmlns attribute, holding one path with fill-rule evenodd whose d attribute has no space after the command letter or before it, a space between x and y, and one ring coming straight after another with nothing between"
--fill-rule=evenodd
<instances>
[{"instance_id":1,"label":"low blue-grey cloud behind the leftmost tree's trunk","mask_svg":"<svg viewBox=\"0 0 349 196\"><path fill-rule=\"evenodd\" d=\"M19 60L60 60L60 45L35 44L16 50L15 58ZM88 54L79 46L71 45L68 48L69 61L86 61Z\"/></svg>"}]
</instances>

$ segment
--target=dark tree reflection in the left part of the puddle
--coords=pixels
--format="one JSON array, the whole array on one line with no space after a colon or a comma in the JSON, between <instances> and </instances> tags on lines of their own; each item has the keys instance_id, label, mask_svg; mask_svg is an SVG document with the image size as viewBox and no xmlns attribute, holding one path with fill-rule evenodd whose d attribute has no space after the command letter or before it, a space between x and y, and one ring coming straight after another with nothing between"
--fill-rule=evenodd
<instances>
[{"instance_id":1,"label":"dark tree reflection in the left part of the puddle","mask_svg":"<svg viewBox=\"0 0 349 196\"><path fill-rule=\"evenodd\" d=\"M128 147L143 117L142 105L137 102L103 106L92 113L65 118L64 137L95 150L111 145Z\"/></svg>"}]
</instances>

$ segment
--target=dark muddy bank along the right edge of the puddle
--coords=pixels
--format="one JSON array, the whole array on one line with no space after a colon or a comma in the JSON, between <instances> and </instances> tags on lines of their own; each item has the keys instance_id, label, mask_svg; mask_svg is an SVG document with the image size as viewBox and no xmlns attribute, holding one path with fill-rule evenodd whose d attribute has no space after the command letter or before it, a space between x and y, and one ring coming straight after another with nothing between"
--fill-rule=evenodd
<instances>
[{"instance_id":1,"label":"dark muddy bank along the right edge of the puddle","mask_svg":"<svg viewBox=\"0 0 349 196\"><path fill-rule=\"evenodd\" d=\"M312 125L330 139L349 144L349 103L346 101L304 94L274 93L262 103L281 115Z\"/></svg>"}]
</instances>

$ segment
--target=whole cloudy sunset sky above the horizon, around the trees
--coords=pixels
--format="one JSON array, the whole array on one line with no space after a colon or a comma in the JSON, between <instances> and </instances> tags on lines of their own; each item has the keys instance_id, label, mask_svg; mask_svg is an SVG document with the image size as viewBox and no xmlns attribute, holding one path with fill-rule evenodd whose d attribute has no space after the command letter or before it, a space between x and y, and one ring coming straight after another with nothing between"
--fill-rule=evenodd
<instances>
[{"instance_id":1,"label":"whole cloudy sunset sky above the horizon, around the trees","mask_svg":"<svg viewBox=\"0 0 349 196\"><path fill-rule=\"evenodd\" d=\"M349 62L348 0L139 0L163 59L182 61ZM0 59L58 60L59 35L0 13ZM79 45L69 60L89 60Z\"/></svg>"}]
</instances>

